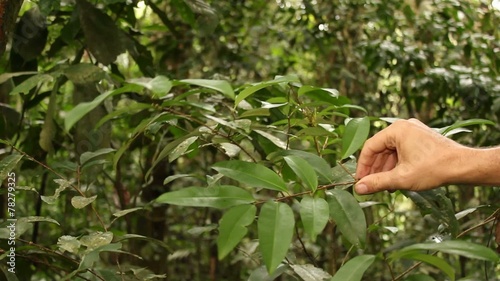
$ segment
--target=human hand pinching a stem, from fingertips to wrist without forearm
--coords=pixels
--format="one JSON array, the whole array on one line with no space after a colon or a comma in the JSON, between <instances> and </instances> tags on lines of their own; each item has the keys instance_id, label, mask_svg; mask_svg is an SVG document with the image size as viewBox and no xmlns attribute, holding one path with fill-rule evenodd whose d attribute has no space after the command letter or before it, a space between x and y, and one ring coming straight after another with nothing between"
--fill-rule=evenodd
<instances>
[{"instance_id":1,"label":"human hand pinching a stem, from fingertips to wrist without forearm","mask_svg":"<svg viewBox=\"0 0 500 281\"><path fill-rule=\"evenodd\" d=\"M452 178L454 165L461 165L462 148L416 119L398 120L365 142L355 190L371 194L438 187Z\"/></svg>"}]
</instances>

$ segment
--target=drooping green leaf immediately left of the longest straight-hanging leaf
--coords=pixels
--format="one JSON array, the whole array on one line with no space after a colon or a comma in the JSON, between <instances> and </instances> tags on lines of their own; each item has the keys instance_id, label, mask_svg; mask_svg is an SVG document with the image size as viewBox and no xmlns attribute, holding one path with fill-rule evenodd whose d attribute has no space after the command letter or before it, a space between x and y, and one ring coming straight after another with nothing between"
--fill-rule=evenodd
<instances>
[{"instance_id":1,"label":"drooping green leaf immediately left of the longest straight-hanging leaf","mask_svg":"<svg viewBox=\"0 0 500 281\"><path fill-rule=\"evenodd\" d=\"M217 249L219 260L229 254L248 232L246 228L255 220L255 205L240 205L229 209L219 222Z\"/></svg>"}]
</instances>

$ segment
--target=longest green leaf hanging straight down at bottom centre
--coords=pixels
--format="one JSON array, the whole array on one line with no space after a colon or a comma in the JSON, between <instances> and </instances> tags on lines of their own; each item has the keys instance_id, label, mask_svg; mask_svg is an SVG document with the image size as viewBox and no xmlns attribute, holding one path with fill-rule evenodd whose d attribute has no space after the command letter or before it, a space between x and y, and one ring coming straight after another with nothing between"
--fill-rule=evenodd
<instances>
[{"instance_id":1,"label":"longest green leaf hanging straight down at bottom centre","mask_svg":"<svg viewBox=\"0 0 500 281\"><path fill-rule=\"evenodd\" d=\"M262 259L269 274L280 265L292 243L295 219L290 206L266 202L259 214L258 235Z\"/></svg>"}]
</instances>

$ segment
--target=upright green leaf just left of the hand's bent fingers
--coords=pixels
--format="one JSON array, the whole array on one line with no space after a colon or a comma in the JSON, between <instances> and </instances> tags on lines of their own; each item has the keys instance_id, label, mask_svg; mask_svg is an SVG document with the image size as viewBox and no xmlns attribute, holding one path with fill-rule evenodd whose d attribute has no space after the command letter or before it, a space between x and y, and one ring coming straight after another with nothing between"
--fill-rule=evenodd
<instances>
[{"instance_id":1,"label":"upright green leaf just left of the hand's bent fingers","mask_svg":"<svg viewBox=\"0 0 500 281\"><path fill-rule=\"evenodd\" d=\"M370 133L370 119L368 117L353 118L345 127L342 138L342 159L351 156L358 150Z\"/></svg>"}]
</instances>

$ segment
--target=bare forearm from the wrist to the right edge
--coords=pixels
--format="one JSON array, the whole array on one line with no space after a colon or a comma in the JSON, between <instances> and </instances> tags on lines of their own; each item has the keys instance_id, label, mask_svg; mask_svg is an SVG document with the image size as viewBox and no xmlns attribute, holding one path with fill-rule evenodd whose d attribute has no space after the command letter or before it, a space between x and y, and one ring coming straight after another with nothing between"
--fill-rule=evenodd
<instances>
[{"instance_id":1,"label":"bare forearm from the wrist to the right edge","mask_svg":"<svg viewBox=\"0 0 500 281\"><path fill-rule=\"evenodd\" d=\"M500 146L494 148L461 147L456 153L447 183L500 185Z\"/></svg>"}]
</instances>

